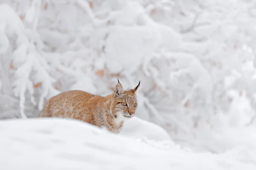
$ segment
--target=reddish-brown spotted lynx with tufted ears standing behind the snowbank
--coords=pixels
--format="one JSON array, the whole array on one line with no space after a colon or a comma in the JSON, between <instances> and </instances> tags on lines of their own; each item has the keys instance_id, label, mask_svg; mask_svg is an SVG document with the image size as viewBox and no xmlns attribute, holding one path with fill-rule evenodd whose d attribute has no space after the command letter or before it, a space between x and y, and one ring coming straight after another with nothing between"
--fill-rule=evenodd
<instances>
[{"instance_id":1,"label":"reddish-brown spotted lynx with tufted ears standing behind the snowbank","mask_svg":"<svg viewBox=\"0 0 256 170\"><path fill-rule=\"evenodd\" d=\"M140 82L134 89L124 91L118 79L113 94L105 97L80 90L66 91L50 98L39 117L73 118L119 133L125 119L135 114L135 92L139 87Z\"/></svg>"}]
</instances>

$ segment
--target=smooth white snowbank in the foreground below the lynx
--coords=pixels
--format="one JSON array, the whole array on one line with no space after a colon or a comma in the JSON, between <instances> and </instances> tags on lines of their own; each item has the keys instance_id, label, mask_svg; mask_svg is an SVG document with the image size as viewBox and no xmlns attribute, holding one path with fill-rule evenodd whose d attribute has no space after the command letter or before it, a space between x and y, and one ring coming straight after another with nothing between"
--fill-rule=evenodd
<instances>
[{"instance_id":1,"label":"smooth white snowbank in the foreground below the lynx","mask_svg":"<svg viewBox=\"0 0 256 170\"><path fill-rule=\"evenodd\" d=\"M0 170L256 169L256 147L221 154L181 149L164 130L140 119L127 123L121 135L70 119L2 120L0 136ZM147 139L154 136L158 142Z\"/></svg>"}]
</instances>

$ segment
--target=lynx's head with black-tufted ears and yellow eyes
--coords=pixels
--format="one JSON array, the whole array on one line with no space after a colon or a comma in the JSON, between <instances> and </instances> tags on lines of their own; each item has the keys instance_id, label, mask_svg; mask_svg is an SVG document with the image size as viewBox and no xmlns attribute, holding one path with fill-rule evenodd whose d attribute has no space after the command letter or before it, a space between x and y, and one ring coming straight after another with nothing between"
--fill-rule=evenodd
<instances>
[{"instance_id":1,"label":"lynx's head with black-tufted ears and yellow eyes","mask_svg":"<svg viewBox=\"0 0 256 170\"><path fill-rule=\"evenodd\" d=\"M119 115L126 118L131 118L134 116L137 108L137 97L135 92L139 87L140 82L135 88L125 91L118 80L118 83L114 89L113 100L111 103L111 112L115 118Z\"/></svg>"}]
</instances>

